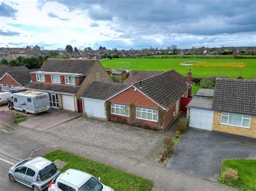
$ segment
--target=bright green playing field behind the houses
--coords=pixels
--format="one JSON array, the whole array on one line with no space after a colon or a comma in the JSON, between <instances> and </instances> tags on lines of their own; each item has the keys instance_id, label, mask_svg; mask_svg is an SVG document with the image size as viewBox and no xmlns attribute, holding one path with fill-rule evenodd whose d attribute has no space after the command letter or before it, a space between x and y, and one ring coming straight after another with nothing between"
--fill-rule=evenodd
<instances>
[{"instance_id":1,"label":"bright green playing field behind the houses","mask_svg":"<svg viewBox=\"0 0 256 191\"><path fill-rule=\"evenodd\" d=\"M180 66L181 62L198 61L198 62L246 62L246 67L214 67L214 66ZM130 62L130 67L117 67L117 62ZM167 71L174 69L182 75L187 74L188 68L191 68L192 76L225 76L244 79L253 79L256 77L256 59L111 59L100 61L105 68L133 69L133 70L156 70Z\"/></svg>"}]
</instances>

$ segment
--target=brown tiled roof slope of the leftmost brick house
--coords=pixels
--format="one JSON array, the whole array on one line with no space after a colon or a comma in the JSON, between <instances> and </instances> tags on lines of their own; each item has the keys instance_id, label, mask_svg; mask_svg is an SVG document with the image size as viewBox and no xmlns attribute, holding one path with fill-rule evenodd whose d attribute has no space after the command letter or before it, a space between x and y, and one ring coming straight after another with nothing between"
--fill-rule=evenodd
<instances>
[{"instance_id":1,"label":"brown tiled roof slope of the leftmost brick house","mask_svg":"<svg viewBox=\"0 0 256 191\"><path fill-rule=\"evenodd\" d=\"M31 80L30 72L38 71L39 69L26 69L26 70L16 70L7 72L16 82L21 84L21 86L26 86Z\"/></svg>"}]
</instances>

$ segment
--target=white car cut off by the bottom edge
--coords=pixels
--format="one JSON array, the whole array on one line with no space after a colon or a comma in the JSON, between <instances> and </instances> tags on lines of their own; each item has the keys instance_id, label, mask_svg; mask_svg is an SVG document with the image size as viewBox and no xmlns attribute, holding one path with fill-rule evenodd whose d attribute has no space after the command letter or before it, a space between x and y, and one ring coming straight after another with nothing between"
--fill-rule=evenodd
<instances>
[{"instance_id":1,"label":"white car cut off by the bottom edge","mask_svg":"<svg viewBox=\"0 0 256 191\"><path fill-rule=\"evenodd\" d=\"M48 191L114 191L99 180L88 173L68 169L52 180Z\"/></svg>"}]
</instances>

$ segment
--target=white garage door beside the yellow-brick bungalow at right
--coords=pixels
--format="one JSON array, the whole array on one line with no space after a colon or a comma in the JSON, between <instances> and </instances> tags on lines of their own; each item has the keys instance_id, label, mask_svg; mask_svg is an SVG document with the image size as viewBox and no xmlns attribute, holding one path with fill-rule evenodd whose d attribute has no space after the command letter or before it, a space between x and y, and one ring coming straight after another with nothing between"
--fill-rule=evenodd
<instances>
[{"instance_id":1,"label":"white garage door beside the yellow-brick bungalow at right","mask_svg":"<svg viewBox=\"0 0 256 191\"><path fill-rule=\"evenodd\" d=\"M212 130L213 111L190 109L190 126L192 128Z\"/></svg>"}]
</instances>

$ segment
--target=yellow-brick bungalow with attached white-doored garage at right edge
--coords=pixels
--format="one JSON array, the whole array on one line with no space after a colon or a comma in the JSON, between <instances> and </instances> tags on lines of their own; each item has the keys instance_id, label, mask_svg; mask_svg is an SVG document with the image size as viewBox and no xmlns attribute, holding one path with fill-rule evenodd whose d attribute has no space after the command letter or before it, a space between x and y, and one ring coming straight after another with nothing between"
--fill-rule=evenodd
<instances>
[{"instance_id":1,"label":"yellow-brick bungalow with attached white-doored garage at right edge","mask_svg":"<svg viewBox=\"0 0 256 191\"><path fill-rule=\"evenodd\" d=\"M212 97L187 105L190 126L256 138L255 93L256 80L217 78Z\"/></svg>"}]
</instances>

